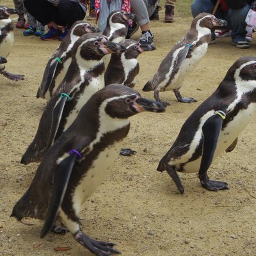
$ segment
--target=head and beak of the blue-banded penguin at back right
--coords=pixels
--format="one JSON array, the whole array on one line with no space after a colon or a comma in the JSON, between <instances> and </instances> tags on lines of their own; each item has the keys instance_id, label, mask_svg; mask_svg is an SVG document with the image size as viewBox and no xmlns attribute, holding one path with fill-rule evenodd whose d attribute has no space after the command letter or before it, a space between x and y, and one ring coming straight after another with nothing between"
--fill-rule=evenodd
<instances>
[{"instance_id":1,"label":"head and beak of the blue-banded penguin at back right","mask_svg":"<svg viewBox=\"0 0 256 256\"><path fill-rule=\"evenodd\" d=\"M191 28L223 28L227 26L226 20L217 19L211 13L199 13L191 24Z\"/></svg>"}]
</instances>

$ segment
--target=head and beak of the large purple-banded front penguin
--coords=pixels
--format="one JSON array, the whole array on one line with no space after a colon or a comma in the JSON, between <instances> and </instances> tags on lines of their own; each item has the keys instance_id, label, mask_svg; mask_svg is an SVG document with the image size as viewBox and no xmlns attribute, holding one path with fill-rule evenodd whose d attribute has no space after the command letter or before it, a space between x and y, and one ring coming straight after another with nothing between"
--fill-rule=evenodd
<instances>
[{"instance_id":1,"label":"head and beak of the large purple-banded front penguin","mask_svg":"<svg viewBox=\"0 0 256 256\"><path fill-rule=\"evenodd\" d=\"M112 118L129 118L143 111L164 112L164 106L156 101L141 97L140 93L122 84L109 84L93 97L104 102L104 111Z\"/></svg>"}]
</instances>

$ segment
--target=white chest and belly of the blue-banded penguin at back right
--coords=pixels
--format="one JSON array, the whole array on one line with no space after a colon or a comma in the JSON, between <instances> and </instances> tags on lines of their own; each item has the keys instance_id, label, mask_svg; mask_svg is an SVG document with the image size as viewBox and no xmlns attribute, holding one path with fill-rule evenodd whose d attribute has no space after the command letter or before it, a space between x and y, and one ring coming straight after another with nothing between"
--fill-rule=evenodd
<instances>
[{"instance_id":1,"label":"white chest and belly of the blue-banded penguin at back right","mask_svg":"<svg viewBox=\"0 0 256 256\"><path fill-rule=\"evenodd\" d=\"M190 72L192 72L196 65L202 60L207 52L208 44L198 45L191 52L191 57L185 58L180 64L179 70L177 74L173 76L173 79L170 81L170 84L166 86L166 88L162 88L162 90L176 90L182 86L184 79ZM172 76L172 72L169 72L168 79Z\"/></svg>"}]
</instances>

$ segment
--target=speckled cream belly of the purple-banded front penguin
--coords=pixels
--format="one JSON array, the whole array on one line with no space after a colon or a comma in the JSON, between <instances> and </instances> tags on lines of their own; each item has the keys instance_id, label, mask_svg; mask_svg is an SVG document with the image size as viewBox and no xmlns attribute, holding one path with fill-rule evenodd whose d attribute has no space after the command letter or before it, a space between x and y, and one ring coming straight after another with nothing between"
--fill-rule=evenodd
<instances>
[{"instance_id":1,"label":"speckled cream belly of the purple-banded front penguin","mask_svg":"<svg viewBox=\"0 0 256 256\"><path fill-rule=\"evenodd\" d=\"M78 186L74 189L73 205L77 216L79 216L81 205L87 198L92 195L102 180L111 170L116 158L120 153L122 141L105 148L99 152L99 155L93 161L90 169L85 172ZM85 159L86 160L86 159Z\"/></svg>"}]
</instances>

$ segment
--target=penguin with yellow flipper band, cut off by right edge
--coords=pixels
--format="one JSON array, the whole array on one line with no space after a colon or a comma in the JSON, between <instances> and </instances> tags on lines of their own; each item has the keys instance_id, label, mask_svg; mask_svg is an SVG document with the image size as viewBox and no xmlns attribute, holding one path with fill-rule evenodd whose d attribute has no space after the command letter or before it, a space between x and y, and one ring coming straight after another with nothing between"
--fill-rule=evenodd
<instances>
[{"instance_id":1,"label":"penguin with yellow flipper band, cut off by right edge","mask_svg":"<svg viewBox=\"0 0 256 256\"><path fill-rule=\"evenodd\" d=\"M236 147L237 137L252 120L255 104L256 57L243 56L182 125L157 170L166 170L180 193L184 193L184 188L177 172L198 172L205 189L228 189L226 182L210 180L207 170L223 151L231 152Z\"/></svg>"}]
</instances>

